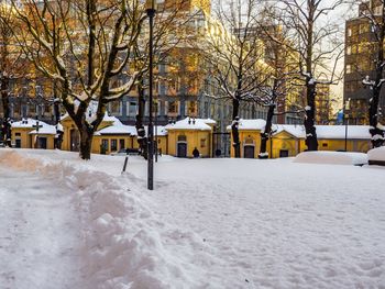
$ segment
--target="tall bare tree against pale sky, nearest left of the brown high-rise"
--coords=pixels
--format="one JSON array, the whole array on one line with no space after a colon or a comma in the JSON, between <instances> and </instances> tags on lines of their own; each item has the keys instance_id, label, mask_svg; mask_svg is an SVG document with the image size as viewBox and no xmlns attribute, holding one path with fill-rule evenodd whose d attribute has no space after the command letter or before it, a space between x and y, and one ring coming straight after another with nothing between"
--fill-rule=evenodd
<instances>
[{"instance_id":1,"label":"tall bare tree against pale sky, nearest left of the brown high-rise","mask_svg":"<svg viewBox=\"0 0 385 289\"><path fill-rule=\"evenodd\" d=\"M328 14L343 0L283 0L280 19L292 31L290 46L298 53L299 76L306 87L305 130L308 151L318 149L315 127L317 85L336 84L337 60L342 56L342 42L337 38L339 27L328 22ZM334 62L331 65L330 62Z\"/></svg>"}]
</instances>

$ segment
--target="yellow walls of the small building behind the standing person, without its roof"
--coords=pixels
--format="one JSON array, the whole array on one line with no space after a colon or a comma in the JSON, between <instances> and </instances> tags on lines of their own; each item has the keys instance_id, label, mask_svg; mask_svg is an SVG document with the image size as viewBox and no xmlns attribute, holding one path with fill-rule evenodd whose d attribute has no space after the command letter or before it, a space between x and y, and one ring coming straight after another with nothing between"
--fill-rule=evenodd
<instances>
[{"instance_id":1,"label":"yellow walls of the small building behind the standing person, without its roof","mask_svg":"<svg viewBox=\"0 0 385 289\"><path fill-rule=\"evenodd\" d=\"M186 136L187 157L193 157L193 151L195 147L197 147L197 149L199 151L199 154L202 157L211 157L212 155L211 131L198 131L198 130L169 130L168 131L168 154L169 155L177 156L177 143L178 143L179 135Z\"/></svg>"}]
</instances>

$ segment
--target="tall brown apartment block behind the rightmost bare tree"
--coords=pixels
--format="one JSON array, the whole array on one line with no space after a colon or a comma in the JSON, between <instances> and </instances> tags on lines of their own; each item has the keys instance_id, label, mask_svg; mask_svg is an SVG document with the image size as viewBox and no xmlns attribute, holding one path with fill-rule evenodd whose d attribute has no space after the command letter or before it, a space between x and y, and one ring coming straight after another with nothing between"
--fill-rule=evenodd
<instances>
[{"instance_id":1,"label":"tall brown apartment block behind the rightmost bare tree","mask_svg":"<svg viewBox=\"0 0 385 289\"><path fill-rule=\"evenodd\" d=\"M381 1L370 0L359 5L359 15L346 21L345 25L345 76L343 88L343 102L348 103L345 118L351 124L369 123L369 100L371 91L365 88L362 80L370 76L374 78L376 64L375 36L367 18L367 10L380 15ZM382 89L380 107L385 109L385 90Z\"/></svg>"}]
</instances>

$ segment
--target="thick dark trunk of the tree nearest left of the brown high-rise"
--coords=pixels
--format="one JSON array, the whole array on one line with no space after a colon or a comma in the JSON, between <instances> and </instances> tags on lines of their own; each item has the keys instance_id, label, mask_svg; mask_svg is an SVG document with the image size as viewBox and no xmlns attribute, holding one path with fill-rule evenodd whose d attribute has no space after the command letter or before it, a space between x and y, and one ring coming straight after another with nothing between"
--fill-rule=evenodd
<instances>
[{"instance_id":1,"label":"thick dark trunk of the tree nearest left of the brown high-rise","mask_svg":"<svg viewBox=\"0 0 385 289\"><path fill-rule=\"evenodd\" d=\"M305 108L305 131L307 151L318 151L318 141L315 126L316 115L316 81L311 77L306 79L307 107Z\"/></svg>"}]
</instances>

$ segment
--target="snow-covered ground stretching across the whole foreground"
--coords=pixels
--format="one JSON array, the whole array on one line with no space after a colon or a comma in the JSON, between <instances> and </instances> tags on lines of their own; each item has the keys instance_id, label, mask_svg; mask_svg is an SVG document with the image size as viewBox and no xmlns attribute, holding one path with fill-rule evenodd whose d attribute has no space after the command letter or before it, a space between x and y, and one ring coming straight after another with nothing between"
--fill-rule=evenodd
<instances>
[{"instance_id":1,"label":"snow-covered ground stretching across the whole foreground","mask_svg":"<svg viewBox=\"0 0 385 289\"><path fill-rule=\"evenodd\" d=\"M385 168L0 149L0 288L385 288Z\"/></svg>"}]
</instances>

